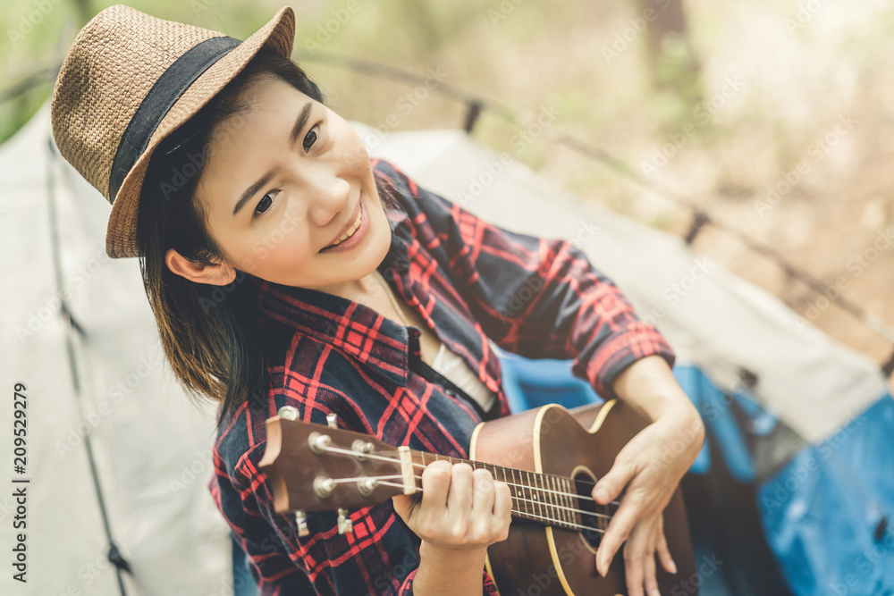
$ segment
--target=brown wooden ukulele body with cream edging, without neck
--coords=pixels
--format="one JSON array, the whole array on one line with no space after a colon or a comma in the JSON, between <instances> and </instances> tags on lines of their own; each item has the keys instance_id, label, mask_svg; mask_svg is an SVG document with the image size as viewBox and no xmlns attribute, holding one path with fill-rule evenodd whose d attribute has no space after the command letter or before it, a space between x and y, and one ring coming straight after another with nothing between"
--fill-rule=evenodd
<instances>
[{"instance_id":1,"label":"brown wooden ukulele body with cream edging, without neck","mask_svg":"<svg viewBox=\"0 0 894 596\"><path fill-rule=\"evenodd\" d=\"M578 475L595 482L608 473L620 449L646 424L618 400L570 411L551 404L479 424L472 435L469 459L565 477ZM678 592L682 589L697 595L697 583L692 582L695 561L679 488L663 515L664 534L678 573L666 572L656 558L659 590L662 596L670 596L675 587ZM601 533L588 534L590 539L583 532L513 518L509 538L487 549L487 571L502 596L626 594L623 545L602 577L595 565Z\"/></svg>"}]
</instances>

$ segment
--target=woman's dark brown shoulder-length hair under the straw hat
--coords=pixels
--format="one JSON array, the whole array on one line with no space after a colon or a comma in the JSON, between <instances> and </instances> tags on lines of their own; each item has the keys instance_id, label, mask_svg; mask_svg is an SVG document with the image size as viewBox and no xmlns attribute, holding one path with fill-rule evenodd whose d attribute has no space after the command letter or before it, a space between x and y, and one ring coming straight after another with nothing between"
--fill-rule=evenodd
<instances>
[{"instance_id":1,"label":"woman's dark brown shoulder-length hair under the straw hat","mask_svg":"<svg viewBox=\"0 0 894 596\"><path fill-rule=\"evenodd\" d=\"M237 270L229 286L197 283L171 272L164 255L173 248L196 264L222 260L223 251L207 231L207 214L195 189L212 147L212 134L220 132L215 126L230 116L238 121L246 107L240 94L258 76L283 80L325 103L320 88L298 64L262 50L189 122L156 147L139 198L139 267L164 353L173 373L193 396L221 404L218 428L246 399L249 406L266 411L265 356L257 326L251 324L257 278ZM392 189L383 189L382 184L376 175L380 196L393 202Z\"/></svg>"}]
</instances>

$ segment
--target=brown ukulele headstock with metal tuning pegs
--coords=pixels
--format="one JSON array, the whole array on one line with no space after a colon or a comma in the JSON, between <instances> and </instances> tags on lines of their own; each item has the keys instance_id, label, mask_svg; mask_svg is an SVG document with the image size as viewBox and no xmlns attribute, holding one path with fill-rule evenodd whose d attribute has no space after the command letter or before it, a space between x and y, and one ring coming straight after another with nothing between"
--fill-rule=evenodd
<instances>
[{"instance_id":1,"label":"brown ukulele headstock with metal tuning pegs","mask_svg":"<svg viewBox=\"0 0 894 596\"><path fill-rule=\"evenodd\" d=\"M294 407L281 407L266 421L266 448L258 466L273 486L277 513L363 508L417 490L408 448L339 429L334 414L326 416L328 426L297 416ZM339 513L341 531L345 513ZM301 528L303 513L298 520ZM347 525L350 531L350 520Z\"/></svg>"}]
</instances>

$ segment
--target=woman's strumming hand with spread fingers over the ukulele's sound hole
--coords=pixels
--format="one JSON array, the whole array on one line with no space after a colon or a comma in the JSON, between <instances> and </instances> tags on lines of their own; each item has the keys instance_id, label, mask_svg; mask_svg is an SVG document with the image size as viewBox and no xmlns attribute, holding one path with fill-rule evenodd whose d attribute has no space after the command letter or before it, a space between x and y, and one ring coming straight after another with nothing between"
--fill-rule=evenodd
<instances>
[{"instance_id":1,"label":"woman's strumming hand with spread fingers over the ukulele's sound hole","mask_svg":"<svg viewBox=\"0 0 894 596\"><path fill-rule=\"evenodd\" d=\"M661 596L655 577L656 553L664 569L677 573L664 537L662 512L703 442L704 424L696 408L688 400L680 402L628 441L593 489L593 498L604 505L627 487L596 551L596 569L604 576L621 543L627 541L624 561L629 596L642 596L644 583L649 596Z\"/></svg>"}]
</instances>

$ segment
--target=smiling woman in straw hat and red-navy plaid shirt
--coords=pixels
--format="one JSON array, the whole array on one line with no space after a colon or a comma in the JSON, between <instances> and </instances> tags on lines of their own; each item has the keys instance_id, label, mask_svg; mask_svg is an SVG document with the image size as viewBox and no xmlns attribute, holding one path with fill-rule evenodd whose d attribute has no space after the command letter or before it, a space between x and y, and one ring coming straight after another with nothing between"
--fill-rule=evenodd
<instances>
[{"instance_id":1,"label":"smiling woman in straw hat and red-navy plaid shirt","mask_svg":"<svg viewBox=\"0 0 894 596\"><path fill-rule=\"evenodd\" d=\"M574 358L654 421L594 497L624 491L598 570L626 541L629 593L657 594L655 557L675 572L661 513L704 434L671 348L569 242L490 225L370 159L291 62L293 36L288 7L239 42L113 6L75 40L52 107L60 151L113 204L106 252L140 257L174 373L220 403L210 490L261 592L495 591L485 549L510 498L489 473L432 464L421 499L351 511L341 534L332 512L299 532L257 469L283 406L466 457L476 424L509 414L493 341Z\"/></svg>"}]
</instances>

